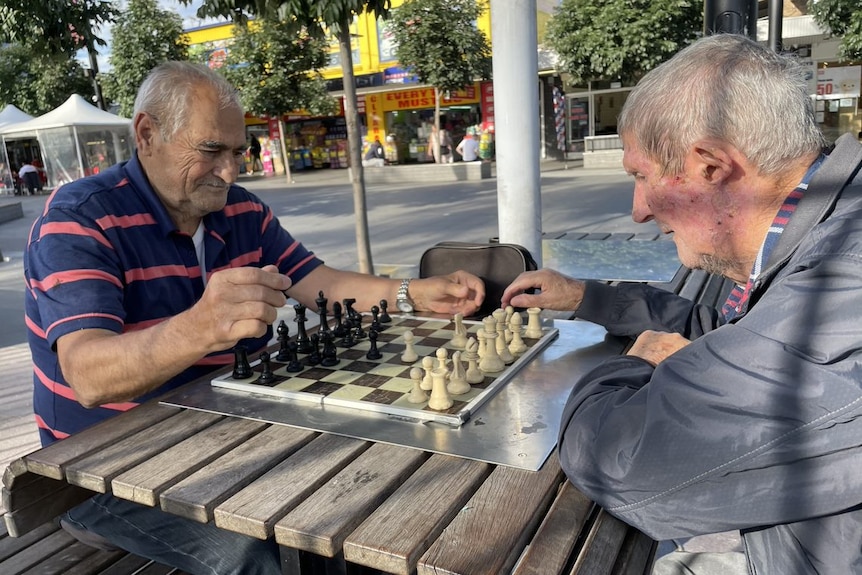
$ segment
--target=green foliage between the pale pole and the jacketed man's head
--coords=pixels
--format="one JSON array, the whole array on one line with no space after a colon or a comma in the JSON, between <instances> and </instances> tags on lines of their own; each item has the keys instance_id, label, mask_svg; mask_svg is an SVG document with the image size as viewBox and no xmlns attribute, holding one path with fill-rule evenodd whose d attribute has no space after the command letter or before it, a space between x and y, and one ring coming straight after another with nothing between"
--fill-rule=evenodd
<instances>
[{"instance_id":1,"label":"green foliage between the pale pole and the jacketed man's head","mask_svg":"<svg viewBox=\"0 0 862 575\"><path fill-rule=\"evenodd\" d=\"M633 82L702 29L702 0L563 0L545 39L576 84Z\"/></svg>"}]
</instances>

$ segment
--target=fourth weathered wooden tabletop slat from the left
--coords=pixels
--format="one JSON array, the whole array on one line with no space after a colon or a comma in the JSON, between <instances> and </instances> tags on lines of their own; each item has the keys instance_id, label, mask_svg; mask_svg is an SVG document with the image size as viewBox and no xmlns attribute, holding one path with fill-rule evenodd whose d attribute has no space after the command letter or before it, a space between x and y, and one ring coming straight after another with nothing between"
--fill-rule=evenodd
<instances>
[{"instance_id":1,"label":"fourth weathered wooden tabletop slat from the left","mask_svg":"<svg viewBox=\"0 0 862 575\"><path fill-rule=\"evenodd\" d=\"M314 439L313 431L273 425L166 489L164 511L201 523L213 519L216 505L238 492Z\"/></svg>"}]
</instances>

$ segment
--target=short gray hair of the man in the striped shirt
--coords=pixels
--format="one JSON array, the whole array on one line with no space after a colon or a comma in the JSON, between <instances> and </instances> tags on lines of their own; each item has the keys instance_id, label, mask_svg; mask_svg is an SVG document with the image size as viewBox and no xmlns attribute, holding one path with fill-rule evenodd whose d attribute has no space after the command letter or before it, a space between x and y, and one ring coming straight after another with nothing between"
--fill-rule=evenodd
<instances>
[{"instance_id":1,"label":"short gray hair of the man in the striped shirt","mask_svg":"<svg viewBox=\"0 0 862 575\"><path fill-rule=\"evenodd\" d=\"M200 85L212 87L220 108L242 110L236 88L218 72L195 62L163 62L150 71L138 89L132 117L141 112L153 116L162 137L169 142L191 115L195 105L191 91Z\"/></svg>"}]
</instances>

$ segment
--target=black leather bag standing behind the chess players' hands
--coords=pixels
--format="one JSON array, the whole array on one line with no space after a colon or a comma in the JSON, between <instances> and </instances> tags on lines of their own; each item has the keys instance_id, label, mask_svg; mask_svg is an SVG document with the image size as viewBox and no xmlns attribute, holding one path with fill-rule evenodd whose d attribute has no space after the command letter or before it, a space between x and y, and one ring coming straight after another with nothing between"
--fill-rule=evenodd
<instances>
[{"instance_id":1,"label":"black leather bag standing behind the chess players' hands","mask_svg":"<svg viewBox=\"0 0 862 575\"><path fill-rule=\"evenodd\" d=\"M483 318L500 307L503 291L519 274L538 269L529 250L517 244L440 242L419 261L419 277L446 275L457 270L485 282L485 301L473 317Z\"/></svg>"}]
</instances>

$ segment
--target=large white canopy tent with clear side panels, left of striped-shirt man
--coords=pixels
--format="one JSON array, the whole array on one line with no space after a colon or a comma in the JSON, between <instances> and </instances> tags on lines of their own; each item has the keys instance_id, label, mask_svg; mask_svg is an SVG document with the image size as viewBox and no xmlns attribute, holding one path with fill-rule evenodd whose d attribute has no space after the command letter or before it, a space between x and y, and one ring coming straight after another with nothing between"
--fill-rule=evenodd
<instances>
[{"instance_id":1,"label":"large white canopy tent with clear side panels, left of striped-shirt man","mask_svg":"<svg viewBox=\"0 0 862 575\"><path fill-rule=\"evenodd\" d=\"M47 114L0 124L0 136L4 148L16 140L37 140L48 185L53 187L130 158L130 124L131 120L100 110L73 94Z\"/></svg>"}]
</instances>

